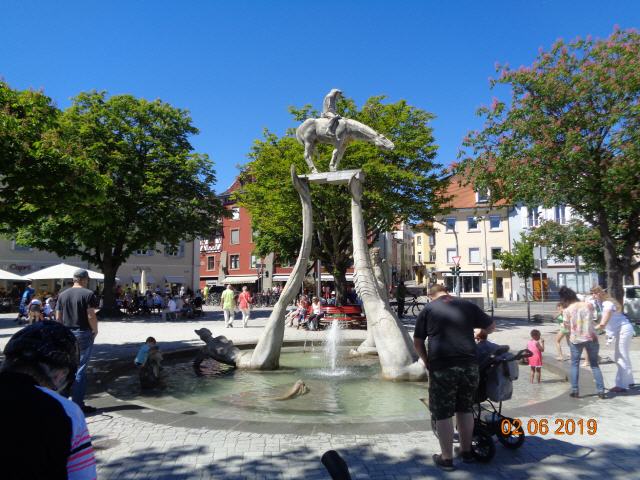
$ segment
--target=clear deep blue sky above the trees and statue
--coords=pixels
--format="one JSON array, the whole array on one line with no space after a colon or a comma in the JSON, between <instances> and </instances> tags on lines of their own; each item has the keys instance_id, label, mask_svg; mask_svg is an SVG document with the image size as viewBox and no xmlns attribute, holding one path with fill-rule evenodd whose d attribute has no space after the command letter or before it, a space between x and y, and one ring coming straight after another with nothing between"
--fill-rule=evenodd
<instances>
[{"instance_id":1,"label":"clear deep blue sky above the trees and statue","mask_svg":"<svg viewBox=\"0 0 640 480\"><path fill-rule=\"evenodd\" d=\"M265 127L284 133L289 105L320 108L332 87L433 112L448 164L491 102L496 61L530 64L614 24L640 26L640 2L0 0L0 76L63 108L98 89L190 110L222 191Z\"/></svg>"}]
</instances>

